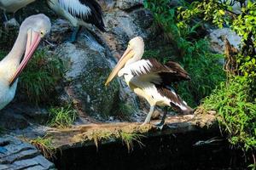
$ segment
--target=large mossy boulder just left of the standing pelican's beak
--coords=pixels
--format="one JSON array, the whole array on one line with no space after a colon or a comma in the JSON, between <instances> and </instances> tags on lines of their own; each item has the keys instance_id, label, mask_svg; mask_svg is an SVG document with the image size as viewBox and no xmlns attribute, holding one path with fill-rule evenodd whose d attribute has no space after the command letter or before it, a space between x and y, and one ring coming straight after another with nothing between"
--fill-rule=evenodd
<instances>
[{"instance_id":1,"label":"large mossy boulder just left of the standing pelican's beak","mask_svg":"<svg viewBox=\"0 0 256 170\"><path fill-rule=\"evenodd\" d=\"M67 42L56 49L69 63L65 91L84 116L110 116L117 105L119 84L114 81L108 88L104 86L111 67L103 50L89 32L81 34L77 44Z\"/></svg>"}]
</instances>

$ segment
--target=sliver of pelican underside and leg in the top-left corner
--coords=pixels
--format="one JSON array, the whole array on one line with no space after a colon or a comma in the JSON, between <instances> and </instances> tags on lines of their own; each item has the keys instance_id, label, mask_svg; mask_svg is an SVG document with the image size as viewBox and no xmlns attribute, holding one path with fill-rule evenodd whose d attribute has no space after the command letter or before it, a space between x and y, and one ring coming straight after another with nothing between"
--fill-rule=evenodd
<instances>
[{"instance_id":1,"label":"sliver of pelican underside and leg in the top-left corner","mask_svg":"<svg viewBox=\"0 0 256 170\"><path fill-rule=\"evenodd\" d=\"M4 18L8 18L5 13L15 14L20 8L26 7L27 4L33 3L35 0L0 0L0 8L3 9Z\"/></svg>"}]
</instances>

